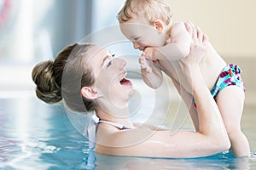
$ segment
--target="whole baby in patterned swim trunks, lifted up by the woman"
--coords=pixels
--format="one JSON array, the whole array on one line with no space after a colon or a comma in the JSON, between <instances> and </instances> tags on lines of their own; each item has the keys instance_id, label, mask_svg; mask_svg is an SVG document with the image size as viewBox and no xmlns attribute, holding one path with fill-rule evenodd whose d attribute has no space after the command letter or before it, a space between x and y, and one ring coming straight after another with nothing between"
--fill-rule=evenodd
<instances>
[{"instance_id":1,"label":"whole baby in patterned swim trunks, lifted up by the woman","mask_svg":"<svg viewBox=\"0 0 256 170\"><path fill-rule=\"evenodd\" d=\"M198 130L195 99L187 85L189 83L183 78L183 58L189 54L192 41L191 32L187 29L196 31L199 28L195 29L191 23L173 23L165 0L126 0L118 20L120 30L133 47L143 51L139 59L143 81L151 88L159 88L163 81L162 71L165 72L188 106ZM205 38L201 33L198 37ZM240 68L234 64L227 65L208 41L200 65L207 87L223 117L234 155L249 156L249 144L240 127L245 98Z\"/></svg>"}]
</instances>

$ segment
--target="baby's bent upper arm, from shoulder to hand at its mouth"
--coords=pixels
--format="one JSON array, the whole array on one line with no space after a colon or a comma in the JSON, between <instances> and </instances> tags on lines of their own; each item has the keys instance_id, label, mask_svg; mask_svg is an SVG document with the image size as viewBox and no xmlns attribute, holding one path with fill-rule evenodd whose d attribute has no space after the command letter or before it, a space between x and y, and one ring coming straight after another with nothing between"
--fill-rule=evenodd
<instances>
[{"instance_id":1,"label":"baby's bent upper arm, from shoulder to hand at its mouth","mask_svg":"<svg viewBox=\"0 0 256 170\"><path fill-rule=\"evenodd\" d=\"M167 57L170 60L179 60L185 58L190 51L191 35L183 22L172 26L170 32L171 42L160 48L154 48L154 58Z\"/></svg>"}]
</instances>

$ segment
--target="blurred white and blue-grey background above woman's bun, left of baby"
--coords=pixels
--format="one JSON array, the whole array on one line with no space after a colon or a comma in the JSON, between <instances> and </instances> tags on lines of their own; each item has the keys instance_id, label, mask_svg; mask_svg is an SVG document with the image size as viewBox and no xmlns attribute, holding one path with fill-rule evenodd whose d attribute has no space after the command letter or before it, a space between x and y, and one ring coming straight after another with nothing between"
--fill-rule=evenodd
<instances>
[{"instance_id":1,"label":"blurred white and blue-grey background above woman's bun, left of baby","mask_svg":"<svg viewBox=\"0 0 256 170\"><path fill-rule=\"evenodd\" d=\"M93 31L117 25L123 3L0 0L0 98L33 95L32 66Z\"/></svg>"}]
</instances>

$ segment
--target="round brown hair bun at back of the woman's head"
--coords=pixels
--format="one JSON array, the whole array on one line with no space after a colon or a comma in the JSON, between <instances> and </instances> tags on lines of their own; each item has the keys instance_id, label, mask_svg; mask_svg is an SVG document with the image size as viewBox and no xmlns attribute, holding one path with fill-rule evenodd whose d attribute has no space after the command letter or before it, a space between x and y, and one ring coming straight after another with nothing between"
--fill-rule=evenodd
<instances>
[{"instance_id":1,"label":"round brown hair bun at back of the woman's head","mask_svg":"<svg viewBox=\"0 0 256 170\"><path fill-rule=\"evenodd\" d=\"M55 82L53 75L53 61L48 60L35 65L32 70L32 79L37 85L36 94L44 102L53 104L62 99L61 87Z\"/></svg>"}]
</instances>

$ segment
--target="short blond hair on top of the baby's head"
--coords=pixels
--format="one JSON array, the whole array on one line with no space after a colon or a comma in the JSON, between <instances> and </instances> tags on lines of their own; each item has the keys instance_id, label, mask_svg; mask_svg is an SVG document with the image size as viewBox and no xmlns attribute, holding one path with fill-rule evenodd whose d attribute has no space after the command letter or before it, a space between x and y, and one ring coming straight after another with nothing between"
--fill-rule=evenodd
<instances>
[{"instance_id":1,"label":"short blond hair on top of the baby's head","mask_svg":"<svg viewBox=\"0 0 256 170\"><path fill-rule=\"evenodd\" d=\"M168 25L172 19L171 9L166 0L126 0L118 14L119 23L131 20L132 14L144 17L149 23L160 19Z\"/></svg>"}]
</instances>

